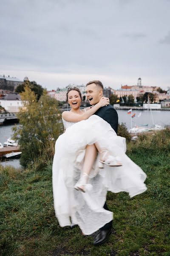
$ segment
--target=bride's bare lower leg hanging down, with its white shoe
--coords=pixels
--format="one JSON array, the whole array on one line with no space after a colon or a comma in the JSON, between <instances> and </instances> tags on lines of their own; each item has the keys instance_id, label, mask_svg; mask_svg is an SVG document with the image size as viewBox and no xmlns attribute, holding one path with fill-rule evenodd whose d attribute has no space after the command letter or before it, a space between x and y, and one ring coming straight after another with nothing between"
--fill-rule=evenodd
<instances>
[{"instance_id":1,"label":"bride's bare lower leg hanging down, with its white shoe","mask_svg":"<svg viewBox=\"0 0 170 256\"><path fill-rule=\"evenodd\" d=\"M96 160L97 149L94 144L87 145L85 150L85 160L80 174L80 179L75 185L75 189L79 189L85 192L85 184L88 183L88 176L93 167L94 161Z\"/></svg>"}]
</instances>

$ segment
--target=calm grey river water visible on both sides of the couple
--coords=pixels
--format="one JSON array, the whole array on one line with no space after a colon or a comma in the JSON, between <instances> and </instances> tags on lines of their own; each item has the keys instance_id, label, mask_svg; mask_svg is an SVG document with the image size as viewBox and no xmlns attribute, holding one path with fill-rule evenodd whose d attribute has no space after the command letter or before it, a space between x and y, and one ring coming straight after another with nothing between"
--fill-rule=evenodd
<instances>
[{"instance_id":1,"label":"calm grey river water visible on both sides of the couple","mask_svg":"<svg viewBox=\"0 0 170 256\"><path fill-rule=\"evenodd\" d=\"M125 122L127 129L130 129L131 126L131 119L132 119L132 125L147 125L148 127L151 127L154 124L156 125L170 125L170 111L139 111L134 110L133 114L136 113L136 116L134 118L131 118L129 114L127 114L127 110L117 110L118 116L119 116L119 123ZM138 117L139 116L139 117ZM0 126L0 143L4 143L9 137L12 136L12 127L14 125L1 125ZM1 162L3 166L11 165L16 168L21 167L20 166L20 160L19 159L13 159L6 162Z\"/></svg>"}]
</instances>

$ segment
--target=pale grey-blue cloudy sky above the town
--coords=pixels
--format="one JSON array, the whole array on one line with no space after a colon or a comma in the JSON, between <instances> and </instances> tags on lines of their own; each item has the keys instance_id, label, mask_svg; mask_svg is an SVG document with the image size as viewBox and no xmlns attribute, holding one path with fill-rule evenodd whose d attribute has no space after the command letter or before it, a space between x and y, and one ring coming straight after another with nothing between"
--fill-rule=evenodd
<instances>
[{"instance_id":1,"label":"pale grey-blue cloudy sky above the town","mask_svg":"<svg viewBox=\"0 0 170 256\"><path fill-rule=\"evenodd\" d=\"M1 0L0 75L170 86L170 0Z\"/></svg>"}]
</instances>

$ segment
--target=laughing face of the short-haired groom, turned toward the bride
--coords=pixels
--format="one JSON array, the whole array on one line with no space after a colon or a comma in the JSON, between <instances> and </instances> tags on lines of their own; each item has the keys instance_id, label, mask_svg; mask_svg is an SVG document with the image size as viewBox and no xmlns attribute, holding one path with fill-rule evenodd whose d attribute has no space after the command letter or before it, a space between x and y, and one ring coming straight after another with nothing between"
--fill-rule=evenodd
<instances>
[{"instance_id":1,"label":"laughing face of the short-haired groom, turned toward the bride","mask_svg":"<svg viewBox=\"0 0 170 256\"><path fill-rule=\"evenodd\" d=\"M95 105L103 96L103 91L96 84L89 84L86 86L86 94L90 105Z\"/></svg>"}]
</instances>

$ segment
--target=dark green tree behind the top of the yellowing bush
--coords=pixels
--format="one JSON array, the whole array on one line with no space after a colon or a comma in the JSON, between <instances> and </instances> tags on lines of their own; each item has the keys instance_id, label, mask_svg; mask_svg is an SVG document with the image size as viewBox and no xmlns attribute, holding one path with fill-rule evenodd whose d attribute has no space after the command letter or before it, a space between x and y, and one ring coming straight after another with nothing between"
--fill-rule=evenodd
<instances>
[{"instance_id":1,"label":"dark green tree behind the top of the yellowing bush","mask_svg":"<svg viewBox=\"0 0 170 256\"><path fill-rule=\"evenodd\" d=\"M22 93L25 91L25 87L28 86L31 91L33 91L37 95L37 100L40 99L43 93L43 88L40 84L37 84L35 81L24 81L23 84L17 86L15 92Z\"/></svg>"}]
</instances>

